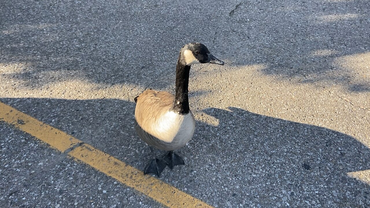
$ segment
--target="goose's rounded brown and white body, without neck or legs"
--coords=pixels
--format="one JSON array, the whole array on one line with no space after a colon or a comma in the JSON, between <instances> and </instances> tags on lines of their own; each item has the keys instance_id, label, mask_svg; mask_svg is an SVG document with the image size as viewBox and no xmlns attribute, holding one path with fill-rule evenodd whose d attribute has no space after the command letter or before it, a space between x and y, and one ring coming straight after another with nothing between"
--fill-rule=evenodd
<instances>
[{"instance_id":1,"label":"goose's rounded brown and white body, without neck or legs","mask_svg":"<svg viewBox=\"0 0 370 208\"><path fill-rule=\"evenodd\" d=\"M145 90L137 97L135 130L148 145L159 150L177 150L191 140L195 130L194 115L171 110L175 95ZM142 109L142 110L141 110Z\"/></svg>"}]
</instances>

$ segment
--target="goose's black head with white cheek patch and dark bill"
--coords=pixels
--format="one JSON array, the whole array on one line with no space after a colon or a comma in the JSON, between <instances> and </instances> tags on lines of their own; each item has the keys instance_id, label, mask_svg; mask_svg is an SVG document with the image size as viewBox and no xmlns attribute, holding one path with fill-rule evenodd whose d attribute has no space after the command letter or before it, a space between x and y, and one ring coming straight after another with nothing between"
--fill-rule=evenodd
<instances>
[{"instance_id":1,"label":"goose's black head with white cheek patch and dark bill","mask_svg":"<svg viewBox=\"0 0 370 208\"><path fill-rule=\"evenodd\" d=\"M208 48L202 43L188 43L181 48L180 57L185 61L186 65L192 64L220 64L225 62L219 60L209 52Z\"/></svg>"}]
</instances>

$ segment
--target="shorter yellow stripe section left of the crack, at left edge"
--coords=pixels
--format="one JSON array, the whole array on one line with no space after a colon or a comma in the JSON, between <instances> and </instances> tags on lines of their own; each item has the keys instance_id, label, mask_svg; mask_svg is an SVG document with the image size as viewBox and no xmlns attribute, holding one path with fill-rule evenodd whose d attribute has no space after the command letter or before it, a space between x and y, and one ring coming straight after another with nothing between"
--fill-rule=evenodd
<instances>
[{"instance_id":1,"label":"shorter yellow stripe section left of the crack, at left edge","mask_svg":"<svg viewBox=\"0 0 370 208\"><path fill-rule=\"evenodd\" d=\"M15 125L20 130L33 135L39 140L50 144L51 147L64 152L73 145L81 142L73 136L66 134L50 125L22 113L15 108L0 102L0 120Z\"/></svg>"}]
</instances>

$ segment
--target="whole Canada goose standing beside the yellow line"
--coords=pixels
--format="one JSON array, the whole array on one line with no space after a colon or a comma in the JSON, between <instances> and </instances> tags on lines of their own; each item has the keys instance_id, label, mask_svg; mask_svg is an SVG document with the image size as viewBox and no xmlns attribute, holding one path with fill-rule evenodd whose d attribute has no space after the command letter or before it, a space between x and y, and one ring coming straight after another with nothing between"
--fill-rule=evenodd
<instances>
[{"instance_id":1,"label":"whole Canada goose standing beside the yellow line","mask_svg":"<svg viewBox=\"0 0 370 208\"><path fill-rule=\"evenodd\" d=\"M144 174L151 172L160 177L166 165L172 169L175 165L185 164L174 150L184 147L194 134L195 119L188 98L189 71L192 64L201 63L225 64L203 44L188 43L181 48L176 64L175 95L149 89L135 97L135 130L151 146L154 156ZM152 147L168 153L158 158Z\"/></svg>"}]
</instances>

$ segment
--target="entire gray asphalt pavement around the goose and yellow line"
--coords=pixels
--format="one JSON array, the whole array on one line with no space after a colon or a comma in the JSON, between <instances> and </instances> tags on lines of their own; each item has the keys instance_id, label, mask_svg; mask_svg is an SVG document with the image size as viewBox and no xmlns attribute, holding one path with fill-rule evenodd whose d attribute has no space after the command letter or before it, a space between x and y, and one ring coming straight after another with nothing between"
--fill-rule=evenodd
<instances>
[{"instance_id":1,"label":"entire gray asphalt pavement around the goose and yellow line","mask_svg":"<svg viewBox=\"0 0 370 208\"><path fill-rule=\"evenodd\" d=\"M142 170L133 98L192 67L161 180L214 207L370 207L367 0L0 2L0 101ZM0 207L162 207L0 121ZM162 154L158 152L158 154Z\"/></svg>"}]
</instances>

